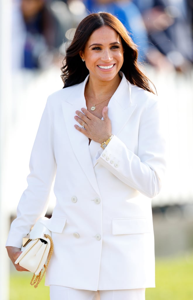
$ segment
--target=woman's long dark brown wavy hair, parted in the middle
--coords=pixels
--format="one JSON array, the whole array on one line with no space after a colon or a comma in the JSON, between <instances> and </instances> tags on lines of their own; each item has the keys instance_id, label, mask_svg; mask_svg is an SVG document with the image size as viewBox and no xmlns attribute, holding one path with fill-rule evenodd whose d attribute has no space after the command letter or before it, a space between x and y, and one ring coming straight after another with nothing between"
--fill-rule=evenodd
<instances>
[{"instance_id":1,"label":"woman's long dark brown wavy hair, parted in the middle","mask_svg":"<svg viewBox=\"0 0 193 300\"><path fill-rule=\"evenodd\" d=\"M150 80L140 70L137 62L137 46L132 41L123 24L111 13L92 13L84 18L78 25L72 43L66 50L63 60L61 78L64 88L82 82L89 74L85 62L80 58L79 52L83 51L90 35L102 26L110 26L121 37L124 48L124 62L121 71L130 83L154 93L150 87ZM155 93L154 93L155 94Z\"/></svg>"}]
</instances>

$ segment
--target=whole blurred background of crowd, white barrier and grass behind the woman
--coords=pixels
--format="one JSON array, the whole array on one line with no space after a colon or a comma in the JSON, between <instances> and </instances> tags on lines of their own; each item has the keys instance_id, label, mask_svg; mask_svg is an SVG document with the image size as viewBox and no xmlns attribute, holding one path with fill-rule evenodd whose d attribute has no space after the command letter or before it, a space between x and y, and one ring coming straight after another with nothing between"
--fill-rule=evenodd
<instances>
[{"instance_id":1,"label":"whole blurred background of crowd, white barrier and grass behind the woman","mask_svg":"<svg viewBox=\"0 0 193 300\"><path fill-rule=\"evenodd\" d=\"M4 248L27 186L39 121L77 24L89 12L116 15L139 47L163 112L167 173L152 200L156 289L147 300L193 300L192 0L0 0L0 299L49 299L17 273ZM54 205L50 196L48 215ZM31 297L31 298L30 298ZM39 298L38 298L39 297Z\"/></svg>"}]
</instances>

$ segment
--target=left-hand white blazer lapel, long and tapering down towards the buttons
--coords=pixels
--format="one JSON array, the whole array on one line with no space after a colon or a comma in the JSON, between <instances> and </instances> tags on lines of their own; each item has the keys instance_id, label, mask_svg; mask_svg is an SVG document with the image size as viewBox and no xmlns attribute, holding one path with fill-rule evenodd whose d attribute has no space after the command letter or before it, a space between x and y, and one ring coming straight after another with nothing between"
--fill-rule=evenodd
<instances>
[{"instance_id":1,"label":"left-hand white blazer lapel, long and tapering down towards the buttons","mask_svg":"<svg viewBox=\"0 0 193 300\"><path fill-rule=\"evenodd\" d=\"M81 134L74 127L76 121L74 116L75 111L80 110L82 107L86 108L86 101L84 98L84 88L88 76L85 81L73 89L66 101L62 101L62 109L66 130L68 132L69 140L72 145L73 152L82 167L83 172L86 174L90 184L95 189L96 193L100 194L98 184L93 169L92 159L89 151L89 139Z\"/></svg>"}]
</instances>

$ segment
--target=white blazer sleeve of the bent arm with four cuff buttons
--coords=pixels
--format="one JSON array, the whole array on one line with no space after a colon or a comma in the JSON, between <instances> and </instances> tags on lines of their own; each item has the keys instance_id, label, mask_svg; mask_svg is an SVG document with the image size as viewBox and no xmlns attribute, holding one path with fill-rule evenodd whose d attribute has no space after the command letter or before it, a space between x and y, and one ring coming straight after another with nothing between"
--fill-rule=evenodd
<instances>
[{"instance_id":1,"label":"white blazer sleeve of the bent arm with four cuff buttons","mask_svg":"<svg viewBox=\"0 0 193 300\"><path fill-rule=\"evenodd\" d=\"M95 159L125 184L150 198L156 196L165 173L165 140L158 101L141 115L137 154L114 135Z\"/></svg>"}]
</instances>

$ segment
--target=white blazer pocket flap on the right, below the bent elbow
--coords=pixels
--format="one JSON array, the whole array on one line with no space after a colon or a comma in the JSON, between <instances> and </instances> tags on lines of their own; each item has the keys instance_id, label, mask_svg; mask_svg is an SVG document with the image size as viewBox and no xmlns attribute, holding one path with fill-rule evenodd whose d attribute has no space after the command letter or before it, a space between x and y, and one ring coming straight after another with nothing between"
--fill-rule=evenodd
<instances>
[{"instance_id":1,"label":"white blazer pocket flap on the right, below the bent elbow","mask_svg":"<svg viewBox=\"0 0 193 300\"><path fill-rule=\"evenodd\" d=\"M112 220L113 235L142 234L150 232L146 218L124 218Z\"/></svg>"}]
</instances>

